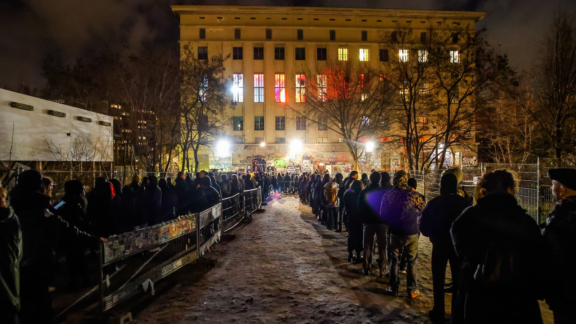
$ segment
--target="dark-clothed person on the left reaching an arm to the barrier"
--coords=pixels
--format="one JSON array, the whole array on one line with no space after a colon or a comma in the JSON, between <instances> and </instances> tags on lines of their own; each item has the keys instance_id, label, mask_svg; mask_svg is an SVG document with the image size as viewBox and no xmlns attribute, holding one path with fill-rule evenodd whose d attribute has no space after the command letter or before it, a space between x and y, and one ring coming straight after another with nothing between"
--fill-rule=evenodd
<instances>
[{"instance_id":1,"label":"dark-clothed person on the left reaching an arm to the barrier","mask_svg":"<svg viewBox=\"0 0 576 324\"><path fill-rule=\"evenodd\" d=\"M10 192L10 205L22 227L22 259L20 261L22 324L52 323L52 299L48 292L50 277L47 266L53 262L52 250L58 235L75 238L97 248L101 238L80 231L55 214L50 198L41 193L42 175L26 170L18 185Z\"/></svg>"}]
</instances>

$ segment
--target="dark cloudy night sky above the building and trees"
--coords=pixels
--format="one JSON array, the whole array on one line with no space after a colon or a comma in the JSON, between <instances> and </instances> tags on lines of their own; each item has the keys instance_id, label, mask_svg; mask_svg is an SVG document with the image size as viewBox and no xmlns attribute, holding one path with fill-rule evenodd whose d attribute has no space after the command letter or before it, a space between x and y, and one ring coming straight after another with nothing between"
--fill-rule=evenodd
<instances>
[{"instance_id":1,"label":"dark cloudy night sky above the building and trees","mask_svg":"<svg viewBox=\"0 0 576 324\"><path fill-rule=\"evenodd\" d=\"M178 22L170 5L286 5L380 7L487 12L479 27L500 44L513 66L530 70L543 32L559 9L574 13L574 0L2 0L0 1L0 87L42 87L45 58L73 63L106 48L134 52L177 46Z\"/></svg>"}]
</instances>

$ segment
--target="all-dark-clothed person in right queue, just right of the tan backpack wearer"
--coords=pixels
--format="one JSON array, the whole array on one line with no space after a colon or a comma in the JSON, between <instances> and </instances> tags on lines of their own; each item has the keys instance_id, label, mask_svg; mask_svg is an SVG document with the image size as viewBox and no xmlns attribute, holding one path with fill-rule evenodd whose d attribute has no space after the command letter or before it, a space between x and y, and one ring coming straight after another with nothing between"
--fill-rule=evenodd
<instances>
[{"instance_id":1,"label":"all-dark-clothed person in right queue, just right of the tan backpack wearer","mask_svg":"<svg viewBox=\"0 0 576 324\"><path fill-rule=\"evenodd\" d=\"M344 209L346 209L348 215L348 262L363 260L362 221L358 216L358 198L363 188L364 184L359 180L355 180L342 198ZM354 251L356 255L354 255Z\"/></svg>"}]
</instances>

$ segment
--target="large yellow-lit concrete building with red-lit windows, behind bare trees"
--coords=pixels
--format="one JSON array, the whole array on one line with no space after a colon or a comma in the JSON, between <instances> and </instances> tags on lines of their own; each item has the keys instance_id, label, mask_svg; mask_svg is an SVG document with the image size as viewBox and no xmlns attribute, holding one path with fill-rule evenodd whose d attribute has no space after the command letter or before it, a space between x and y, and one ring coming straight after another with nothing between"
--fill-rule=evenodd
<instances>
[{"instance_id":1,"label":"large yellow-lit concrete building with red-lit windows, behind bare trees","mask_svg":"<svg viewBox=\"0 0 576 324\"><path fill-rule=\"evenodd\" d=\"M266 164L275 171L347 171L353 158L339 134L306 125L295 110L304 110L300 74L327 61L377 66L382 31L409 27L425 31L437 21L474 28L484 13L395 9L275 6L173 6L180 19L180 40L199 56L230 55L226 77L233 77L228 133L244 138L230 153L203 152L202 168L233 171ZM380 54L380 55L379 55ZM240 81L238 81L240 80ZM289 109L291 107L292 109ZM374 135L378 138L378 134ZM364 168L395 167L403 150L378 154L380 162ZM254 161L254 162L253 162ZM378 165L380 164L380 165Z\"/></svg>"}]
</instances>

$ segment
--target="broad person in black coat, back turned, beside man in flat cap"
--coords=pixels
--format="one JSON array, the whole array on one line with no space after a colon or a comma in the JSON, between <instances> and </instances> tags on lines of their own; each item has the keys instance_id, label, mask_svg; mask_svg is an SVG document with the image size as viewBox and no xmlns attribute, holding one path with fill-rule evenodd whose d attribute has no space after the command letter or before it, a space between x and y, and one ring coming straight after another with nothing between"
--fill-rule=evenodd
<instances>
[{"instance_id":1,"label":"broad person in black coat, back turned, beside man in flat cap","mask_svg":"<svg viewBox=\"0 0 576 324\"><path fill-rule=\"evenodd\" d=\"M543 273L538 258L544 241L514 187L505 169L484 174L477 204L452 223L452 243L463 262L454 323L542 323L543 287L529 283Z\"/></svg>"}]
</instances>

